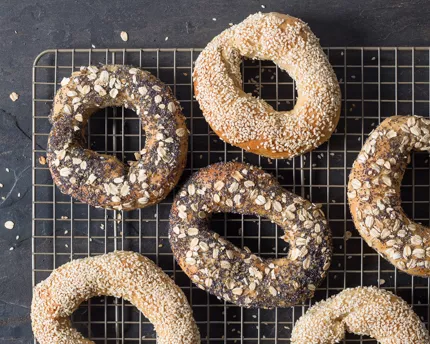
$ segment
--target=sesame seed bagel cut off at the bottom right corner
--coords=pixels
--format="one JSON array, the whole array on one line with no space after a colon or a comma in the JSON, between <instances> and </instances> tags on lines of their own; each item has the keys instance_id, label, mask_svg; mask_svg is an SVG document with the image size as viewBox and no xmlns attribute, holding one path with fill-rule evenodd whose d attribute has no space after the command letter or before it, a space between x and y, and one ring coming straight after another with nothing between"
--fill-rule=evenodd
<instances>
[{"instance_id":1,"label":"sesame seed bagel cut off at the bottom right corner","mask_svg":"<svg viewBox=\"0 0 430 344\"><path fill-rule=\"evenodd\" d=\"M375 287L346 289L315 304L296 322L291 343L340 343L346 331L381 344L430 343L428 331L408 304Z\"/></svg>"}]
</instances>

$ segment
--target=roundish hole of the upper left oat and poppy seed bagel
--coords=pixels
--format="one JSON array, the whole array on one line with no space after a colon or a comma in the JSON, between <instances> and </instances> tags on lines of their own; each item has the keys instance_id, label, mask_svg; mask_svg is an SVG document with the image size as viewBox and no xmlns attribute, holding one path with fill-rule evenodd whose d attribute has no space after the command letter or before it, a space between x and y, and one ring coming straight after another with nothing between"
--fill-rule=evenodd
<instances>
[{"instance_id":1,"label":"roundish hole of the upper left oat and poppy seed bagel","mask_svg":"<svg viewBox=\"0 0 430 344\"><path fill-rule=\"evenodd\" d=\"M139 116L124 107L95 112L88 122L86 138L89 149L115 156L125 164L136 160L134 153L140 152L146 142Z\"/></svg>"}]
</instances>

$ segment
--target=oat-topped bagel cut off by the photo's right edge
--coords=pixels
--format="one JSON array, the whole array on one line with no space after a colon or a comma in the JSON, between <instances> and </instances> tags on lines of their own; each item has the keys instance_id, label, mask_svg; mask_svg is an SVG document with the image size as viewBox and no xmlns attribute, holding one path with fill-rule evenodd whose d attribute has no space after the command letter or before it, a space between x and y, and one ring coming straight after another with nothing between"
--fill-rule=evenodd
<instances>
[{"instance_id":1,"label":"oat-topped bagel cut off by the photo's right edge","mask_svg":"<svg viewBox=\"0 0 430 344\"><path fill-rule=\"evenodd\" d=\"M410 220L400 198L412 150L430 150L430 120L384 120L353 164L348 200L354 224L369 246L398 269L430 277L430 228Z\"/></svg>"}]
</instances>

